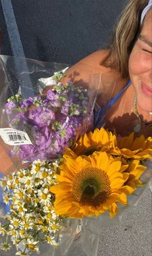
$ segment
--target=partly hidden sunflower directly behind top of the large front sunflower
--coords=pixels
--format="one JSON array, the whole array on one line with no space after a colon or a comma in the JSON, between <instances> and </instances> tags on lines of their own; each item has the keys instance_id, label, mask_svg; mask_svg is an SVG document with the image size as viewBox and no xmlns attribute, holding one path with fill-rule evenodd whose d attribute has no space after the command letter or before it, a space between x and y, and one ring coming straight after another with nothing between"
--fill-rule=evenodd
<instances>
[{"instance_id":1,"label":"partly hidden sunflower directly behind top of the large front sunflower","mask_svg":"<svg viewBox=\"0 0 152 256\"><path fill-rule=\"evenodd\" d=\"M77 155L92 155L94 152L108 152L115 148L117 139L115 135L104 128L96 128L94 132L85 133L75 144L73 152Z\"/></svg>"}]
</instances>

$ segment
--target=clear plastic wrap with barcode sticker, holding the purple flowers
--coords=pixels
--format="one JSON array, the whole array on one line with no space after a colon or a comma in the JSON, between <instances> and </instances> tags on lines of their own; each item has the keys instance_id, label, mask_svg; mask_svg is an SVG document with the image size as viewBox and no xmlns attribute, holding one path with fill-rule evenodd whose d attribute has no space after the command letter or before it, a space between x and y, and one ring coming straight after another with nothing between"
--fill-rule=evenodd
<instances>
[{"instance_id":1,"label":"clear plastic wrap with barcode sticker, holding the purple flowers","mask_svg":"<svg viewBox=\"0 0 152 256\"><path fill-rule=\"evenodd\" d=\"M90 77L87 90L68 83L63 91L60 82L52 80L52 75L67 67L68 64L1 55L0 146L1 156L7 155L8 166L3 166L0 172L13 171L35 159L58 159L76 137L93 128L92 113L100 75L96 81ZM91 83L97 83L96 90ZM47 86L55 90L44 95ZM6 104L8 98L10 101ZM11 145L5 141L6 135ZM19 139L18 145L15 139Z\"/></svg>"}]
</instances>

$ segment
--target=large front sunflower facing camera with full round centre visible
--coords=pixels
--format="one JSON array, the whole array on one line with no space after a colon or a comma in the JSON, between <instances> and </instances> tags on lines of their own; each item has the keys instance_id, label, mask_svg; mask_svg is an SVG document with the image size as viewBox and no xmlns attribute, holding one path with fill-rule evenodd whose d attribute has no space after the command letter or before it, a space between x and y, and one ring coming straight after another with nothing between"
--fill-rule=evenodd
<instances>
[{"instance_id":1,"label":"large front sunflower facing camera with full round centre visible","mask_svg":"<svg viewBox=\"0 0 152 256\"><path fill-rule=\"evenodd\" d=\"M126 205L126 194L133 193L124 186L129 173L121 161L112 159L106 152L93 153L88 157L72 159L64 155L59 184L52 186L55 193L55 212L63 217L81 218L109 210L110 217L118 212L117 202ZM121 190L122 189L122 190Z\"/></svg>"}]
</instances>

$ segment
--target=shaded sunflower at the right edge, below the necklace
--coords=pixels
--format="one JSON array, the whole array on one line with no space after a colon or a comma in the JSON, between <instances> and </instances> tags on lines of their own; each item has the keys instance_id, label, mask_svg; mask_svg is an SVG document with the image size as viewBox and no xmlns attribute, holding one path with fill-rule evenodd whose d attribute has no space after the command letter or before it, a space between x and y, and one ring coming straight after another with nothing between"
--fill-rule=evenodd
<instances>
[{"instance_id":1,"label":"shaded sunflower at the right edge, below the necklace","mask_svg":"<svg viewBox=\"0 0 152 256\"><path fill-rule=\"evenodd\" d=\"M113 150L109 150L111 155L121 155L124 159L151 159L152 137L145 139L144 135L134 140L134 132L127 137L122 137L115 141Z\"/></svg>"}]
</instances>

